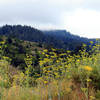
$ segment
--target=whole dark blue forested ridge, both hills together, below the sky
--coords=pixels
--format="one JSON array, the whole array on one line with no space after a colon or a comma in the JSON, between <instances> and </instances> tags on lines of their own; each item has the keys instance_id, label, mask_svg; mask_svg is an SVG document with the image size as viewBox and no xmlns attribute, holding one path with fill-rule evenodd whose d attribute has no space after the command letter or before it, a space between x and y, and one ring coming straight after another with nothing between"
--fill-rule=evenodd
<instances>
[{"instance_id":1,"label":"whole dark blue forested ridge, both hills together, below the sky","mask_svg":"<svg viewBox=\"0 0 100 100\"><path fill-rule=\"evenodd\" d=\"M30 26L5 25L0 27L0 35L16 37L21 40L37 42L48 46L75 50L83 43L89 44L89 39L72 35L65 30L41 31Z\"/></svg>"}]
</instances>

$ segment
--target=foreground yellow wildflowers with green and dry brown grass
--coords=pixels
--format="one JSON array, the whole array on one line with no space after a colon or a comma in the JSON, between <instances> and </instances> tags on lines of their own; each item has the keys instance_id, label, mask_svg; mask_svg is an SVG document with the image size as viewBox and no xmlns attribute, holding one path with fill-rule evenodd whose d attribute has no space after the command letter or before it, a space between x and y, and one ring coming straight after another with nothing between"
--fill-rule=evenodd
<instances>
[{"instance_id":1,"label":"foreground yellow wildflowers with green and dry brown grass","mask_svg":"<svg viewBox=\"0 0 100 100\"><path fill-rule=\"evenodd\" d=\"M33 55L26 54L24 70L11 66L4 45L0 43L1 100L100 100L99 41L95 46L91 42L88 52L84 44L77 54L38 51L36 68Z\"/></svg>"}]
</instances>

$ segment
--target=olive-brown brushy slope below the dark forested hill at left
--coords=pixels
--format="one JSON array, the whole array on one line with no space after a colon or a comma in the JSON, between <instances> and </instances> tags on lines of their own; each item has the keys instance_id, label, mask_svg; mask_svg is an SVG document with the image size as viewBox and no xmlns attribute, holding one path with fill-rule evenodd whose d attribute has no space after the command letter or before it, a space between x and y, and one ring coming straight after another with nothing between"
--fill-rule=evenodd
<instances>
[{"instance_id":1,"label":"olive-brown brushy slope below the dark forested hill at left","mask_svg":"<svg viewBox=\"0 0 100 100\"><path fill-rule=\"evenodd\" d=\"M4 41L3 45L1 45L2 41ZM27 54L33 56L34 65L36 66L38 63L37 51L41 51L45 48L37 42L23 41L5 36L0 36L0 46L2 46L0 48L0 59L1 56L9 57L9 59L11 59L11 65L22 70L26 67L25 58Z\"/></svg>"}]
</instances>

